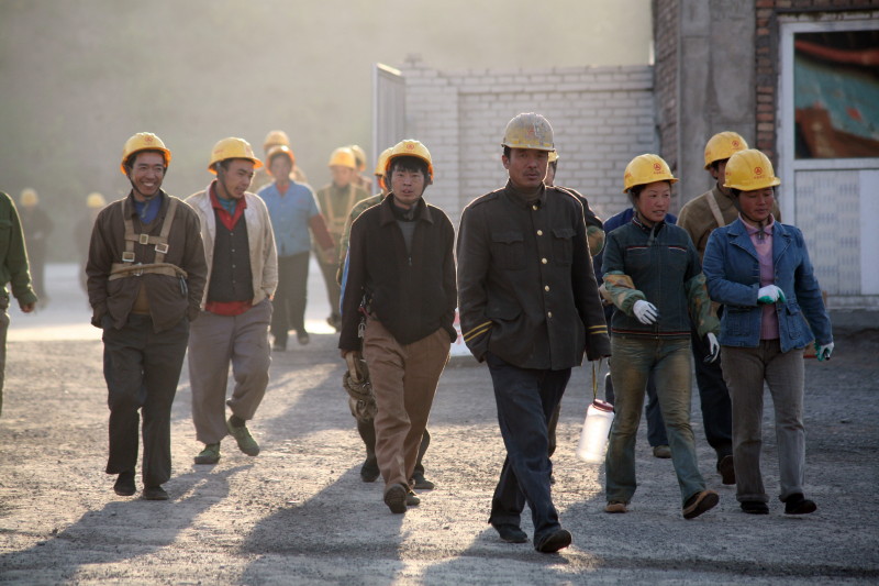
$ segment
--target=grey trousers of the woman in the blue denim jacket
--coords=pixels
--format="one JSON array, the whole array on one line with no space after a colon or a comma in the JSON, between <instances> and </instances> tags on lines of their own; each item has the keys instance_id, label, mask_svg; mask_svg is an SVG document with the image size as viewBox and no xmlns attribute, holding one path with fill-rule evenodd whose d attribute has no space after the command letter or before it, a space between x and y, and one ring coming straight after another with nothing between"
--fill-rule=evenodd
<instances>
[{"instance_id":1,"label":"grey trousers of the woman in the blue denim jacket","mask_svg":"<svg viewBox=\"0 0 879 586\"><path fill-rule=\"evenodd\" d=\"M803 351L781 352L778 340L757 347L723 346L723 377L733 403L733 458L739 502L769 498L760 474L764 382L776 413L781 500L803 491L805 431L803 429Z\"/></svg>"}]
</instances>

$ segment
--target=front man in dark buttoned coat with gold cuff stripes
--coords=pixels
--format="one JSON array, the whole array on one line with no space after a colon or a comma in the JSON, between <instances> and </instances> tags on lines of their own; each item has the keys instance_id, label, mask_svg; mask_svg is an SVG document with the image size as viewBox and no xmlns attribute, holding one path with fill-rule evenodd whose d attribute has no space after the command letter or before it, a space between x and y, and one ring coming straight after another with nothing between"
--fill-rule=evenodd
<instances>
[{"instance_id":1,"label":"front man in dark buttoned coat with gold cuff stripes","mask_svg":"<svg viewBox=\"0 0 879 586\"><path fill-rule=\"evenodd\" d=\"M522 113L503 141L507 186L465 208L458 232L459 313L464 340L487 362L507 458L489 523L523 543L528 504L534 548L567 548L549 488L547 423L571 367L610 355L608 329L586 237L582 204L544 186L555 150L549 122Z\"/></svg>"}]
</instances>

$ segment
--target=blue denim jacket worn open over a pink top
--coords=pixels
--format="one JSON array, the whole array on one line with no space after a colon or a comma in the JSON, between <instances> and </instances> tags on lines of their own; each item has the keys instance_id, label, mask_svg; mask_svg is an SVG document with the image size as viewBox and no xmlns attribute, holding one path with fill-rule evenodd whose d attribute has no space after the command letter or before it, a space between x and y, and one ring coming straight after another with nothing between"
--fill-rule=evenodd
<instances>
[{"instance_id":1,"label":"blue denim jacket worn open over a pink top","mask_svg":"<svg viewBox=\"0 0 879 586\"><path fill-rule=\"evenodd\" d=\"M775 285L787 298L776 303L781 352L805 347L812 340L832 342L831 320L799 228L774 222L772 264ZM702 272L711 299L724 305L720 343L757 347L763 314L763 306L757 305L760 263L741 218L711 233Z\"/></svg>"}]
</instances>

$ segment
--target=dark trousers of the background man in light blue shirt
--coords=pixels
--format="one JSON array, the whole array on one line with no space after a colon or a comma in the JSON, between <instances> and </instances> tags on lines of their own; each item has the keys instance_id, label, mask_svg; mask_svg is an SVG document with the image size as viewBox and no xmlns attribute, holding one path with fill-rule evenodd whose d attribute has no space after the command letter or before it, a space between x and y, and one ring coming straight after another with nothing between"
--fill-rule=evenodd
<instances>
[{"instance_id":1,"label":"dark trousers of the background man in light blue shirt","mask_svg":"<svg viewBox=\"0 0 879 586\"><path fill-rule=\"evenodd\" d=\"M278 288L271 300L271 338L287 343L288 332L305 331L309 285L309 252L278 257Z\"/></svg>"}]
</instances>

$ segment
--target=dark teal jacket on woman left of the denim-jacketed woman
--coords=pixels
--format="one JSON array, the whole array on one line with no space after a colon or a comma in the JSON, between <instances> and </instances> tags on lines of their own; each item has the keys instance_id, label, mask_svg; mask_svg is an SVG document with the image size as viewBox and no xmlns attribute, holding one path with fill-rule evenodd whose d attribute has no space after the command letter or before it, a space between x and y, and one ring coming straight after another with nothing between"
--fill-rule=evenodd
<instances>
[{"instance_id":1,"label":"dark teal jacket on woman left of the denim-jacketed woman","mask_svg":"<svg viewBox=\"0 0 879 586\"><path fill-rule=\"evenodd\" d=\"M691 327L699 335L717 331L699 253L682 228L666 222L647 226L635 215L608 234L602 268L604 287L616 307L613 335L676 339L690 338ZM632 279L634 289L620 284L622 276ZM635 318L633 307L638 300L659 310L655 323Z\"/></svg>"}]
</instances>

